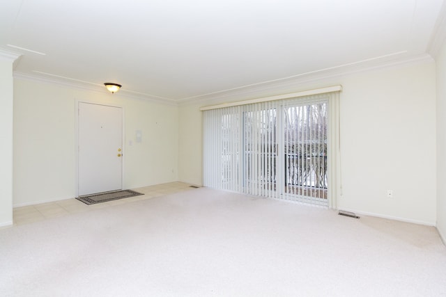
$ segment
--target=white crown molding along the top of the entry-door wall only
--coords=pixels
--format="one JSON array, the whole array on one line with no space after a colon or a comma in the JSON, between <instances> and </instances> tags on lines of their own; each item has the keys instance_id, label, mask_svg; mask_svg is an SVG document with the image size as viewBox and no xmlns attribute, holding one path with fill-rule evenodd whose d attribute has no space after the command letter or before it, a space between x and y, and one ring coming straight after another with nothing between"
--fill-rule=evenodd
<instances>
[{"instance_id":1,"label":"white crown molding along the top of the entry-door wall only","mask_svg":"<svg viewBox=\"0 0 446 297\"><path fill-rule=\"evenodd\" d=\"M49 83L49 84L56 84L59 86L66 86L68 88L74 88L78 90L88 90L96 93L109 93L107 89L102 84L98 83L90 83L88 81L79 81L79 80L70 80L70 79L64 79L62 77L48 77L45 76L45 74L27 74L23 72L14 72L13 78L14 79L22 79L27 81L35 81L38 83ZM137 93L133 92L131 90L119 90L119 93L114 94L115 96L119 97L127 97L130 99L139 99L144 100L147 102L153 102L158 104L167 104L167 105L178 105L174 99L164 99L164 98L158 98L151 95L146 95L143 93Z\"/></svg>"}]
</instances>

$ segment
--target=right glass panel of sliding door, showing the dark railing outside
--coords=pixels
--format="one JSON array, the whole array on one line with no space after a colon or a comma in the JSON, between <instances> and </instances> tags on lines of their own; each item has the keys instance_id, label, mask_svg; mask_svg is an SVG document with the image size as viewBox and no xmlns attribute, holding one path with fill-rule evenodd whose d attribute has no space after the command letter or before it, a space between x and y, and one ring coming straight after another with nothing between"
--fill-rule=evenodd
<instances>
[{"instance_id":1,"label":"right glass panel of sliding door, showing the dark railing outside","mask_svg":"<svg viewBox=\"0 0 446 297\"><path fill-rule=\"evenodd\" d=\"M286 105L284 196L328 204L328 102Z\"/></svg>"}]
</instances>

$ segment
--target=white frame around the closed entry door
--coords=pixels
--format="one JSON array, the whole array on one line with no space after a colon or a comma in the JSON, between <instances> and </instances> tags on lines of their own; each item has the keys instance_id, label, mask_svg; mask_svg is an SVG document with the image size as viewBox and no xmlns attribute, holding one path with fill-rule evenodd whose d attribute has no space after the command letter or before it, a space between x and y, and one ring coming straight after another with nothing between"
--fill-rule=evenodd
<instances>
[{"instance_id":1,"label":"white frame around the closed entry door","mask_svg":"<svg viewBox=\"0 0 446 297\"><path fill-rule=\"evenodd\" d=\"M125 156L127 155L127 149L125 147L125 108L121 104L109 104L109 102L98 102L96 100L89 100L89 99L75 99L75 197L79 197L79 104L80 103L87 103L87 104L96 104L96 105L102 105L102 106L110 106L110 107L118 107L123 112L123 121L122 121L122 148L123 148L123 154L121 156L122 159L122 166L121 166L121 185L122 189L125 189Z\"/></svg>"}]
</instances>

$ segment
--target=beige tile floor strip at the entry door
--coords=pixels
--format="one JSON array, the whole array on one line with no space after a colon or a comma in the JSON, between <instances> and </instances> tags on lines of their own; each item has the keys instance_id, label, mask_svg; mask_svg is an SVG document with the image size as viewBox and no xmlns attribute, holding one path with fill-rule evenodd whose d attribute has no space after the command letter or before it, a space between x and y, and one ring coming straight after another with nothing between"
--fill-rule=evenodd
<instances>
[{"instance_id":1,"label":"beige tile floor strip at the entry door","mask_svg":"<svg viewBox=\"0 0 446 297\"><path fill-rule=\"evenodd\" d=\"M91 211L93 209L110 207L112 205L131 203L138 200L145 200L162 195L178 193L181 191L189 191L194 189L191 186L191 184L185 184L183 182L171 182L168 184L157 184L155 186L134 188L134 191L144 193L144 195L91 205L87 205L84 202L80 202L79 200L72 198L55 202L34 204L26 207L16 207L13 210L14 225L24 225L38 222L40 220L46 220L48 218L69 216L70 214L77 214L79 212Z\"/></svg>"}]
</instances>

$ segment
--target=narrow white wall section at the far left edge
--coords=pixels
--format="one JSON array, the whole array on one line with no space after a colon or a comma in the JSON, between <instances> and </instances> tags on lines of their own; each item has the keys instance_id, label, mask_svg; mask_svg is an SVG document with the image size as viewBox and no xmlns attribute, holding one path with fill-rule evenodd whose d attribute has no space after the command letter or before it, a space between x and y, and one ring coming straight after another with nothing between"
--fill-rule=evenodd
<instances>
[{"instance_id":1,"label":"narrow white wall section at the far left edge","mask_svg":"<svg viewBox=\"0 0 446 297\"><path fill-rule=\"evenodd\" d=\"M13 223L13 59L0 56L0 227Z\"/></svg>"}]
</instances>

